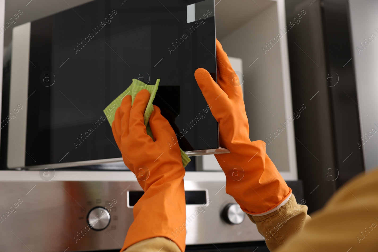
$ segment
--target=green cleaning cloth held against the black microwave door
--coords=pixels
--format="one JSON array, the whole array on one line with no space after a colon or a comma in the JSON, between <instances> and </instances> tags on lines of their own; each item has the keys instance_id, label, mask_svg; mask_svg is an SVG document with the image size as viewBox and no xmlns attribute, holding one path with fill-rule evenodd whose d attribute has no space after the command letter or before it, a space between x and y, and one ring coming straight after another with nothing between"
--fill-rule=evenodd
<instances>
[{"instance_id":1,"label":"green cleaning cloth held against the black microwave door","mask_svg":"<svg viewBox=\"0 0 378 252\"><path fill-rule=\"evenodd\" d=\"M123 97L131 95L131 104L133 104L136 94L142 89L147 89L150 92L151 96L147 104L146 111L144 112L144 125L146 125L147 134L153 139L149 119L153 111L152 102L153 99L155 99L156 91L158 91L159 82L160 79L157 79L155 85L147 85L146 83L141 82L140 80L133 79L131 85L104 109L105 115L110 114L110 117L108 118L110 127L112 127L112 123L114 121L114 116L116 113L116 110L114 108L119 108L121 106ZM181 150L181 148L180 152L181 158L183 160L183 166L185 167L191 161L191 159L186 155L186 153L183 150Z\"/></svg>"}]
</instances>

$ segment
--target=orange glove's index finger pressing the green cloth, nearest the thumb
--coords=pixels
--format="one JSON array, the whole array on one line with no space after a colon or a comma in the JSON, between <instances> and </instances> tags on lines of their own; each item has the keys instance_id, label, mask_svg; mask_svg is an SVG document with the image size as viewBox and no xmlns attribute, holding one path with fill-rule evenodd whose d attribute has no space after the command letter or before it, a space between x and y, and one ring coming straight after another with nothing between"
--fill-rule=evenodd
<instances>
[{"instance_id":1,"label":"orange glove's index finger pressing the green cloth, nearest the thumb","mask_svg":"<svg viewBox=\"0 0 378 252\"><path fill-rule=\"evenodd\" d=\"M129 132L130 137L136 142L152 141L151 137L147 135L146 125L144 125L144 112L150 99L150 92L148 90L141 90L136 94L134 103L130 111ZM134 142L134 144L136 144Z\"/></svg>"}]
</instances>

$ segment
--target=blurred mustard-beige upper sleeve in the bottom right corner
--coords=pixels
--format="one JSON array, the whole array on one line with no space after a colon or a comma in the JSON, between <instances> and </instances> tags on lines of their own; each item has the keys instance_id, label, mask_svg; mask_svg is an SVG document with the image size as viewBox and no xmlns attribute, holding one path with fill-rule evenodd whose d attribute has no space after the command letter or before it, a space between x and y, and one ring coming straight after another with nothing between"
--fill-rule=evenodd
<instances>
[{"instance_id":1,"label":"blurred mustard-beige upper sleeve in the bottom right corner","mask_svg":"<svg viewBox=\"0 0 378 252\"><path fill-rule=\"evenodd\" d=\"M302 232L275 252L378 251L378 170L341 186L311 217Z\"/></svg>"}]
</instances>

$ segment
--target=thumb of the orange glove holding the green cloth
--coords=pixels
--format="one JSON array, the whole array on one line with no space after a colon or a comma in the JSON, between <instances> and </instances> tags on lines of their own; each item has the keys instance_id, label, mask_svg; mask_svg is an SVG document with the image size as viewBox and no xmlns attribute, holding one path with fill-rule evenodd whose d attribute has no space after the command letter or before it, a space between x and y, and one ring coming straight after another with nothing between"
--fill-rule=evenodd
<instances>
[{"instance_id":1,"label":"thumb of the orange glove holding the green cloth","mask_svg":"<svg viewBox=\"0 0 378 252\"><path fill-rule=\"evenodd\" d=\"M156 105L153 105L153 112L150 117L150 127L152 135L155 137L156 142L158 143L163 143L166 141L170 142L172 141L172 137L175 139L175 131L170 126L167 119L161 115L160 108Z\"/></svg>"}]
</instances>

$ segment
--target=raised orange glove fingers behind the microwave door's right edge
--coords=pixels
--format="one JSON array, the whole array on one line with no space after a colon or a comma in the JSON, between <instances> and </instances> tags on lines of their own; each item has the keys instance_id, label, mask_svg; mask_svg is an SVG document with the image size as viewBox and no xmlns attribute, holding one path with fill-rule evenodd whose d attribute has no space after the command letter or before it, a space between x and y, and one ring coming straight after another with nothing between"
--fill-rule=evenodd
<instances>
[{"instance_id":1,"label":"raised orange glove fingers behind the microwave door's right edge","mask_svg":"<svg viewBox=\"0 0 378 252\"><path fill-rule=\"evenodd\" d=\"M223 51L222 45L216 39L217 49L217 69L219 74L217 75L217 83L225 90L229 97L234 95L242 95L242 89L240 87L239 77L235 73L228 59L225 51Z\"/></svg>"}]
</instances>

